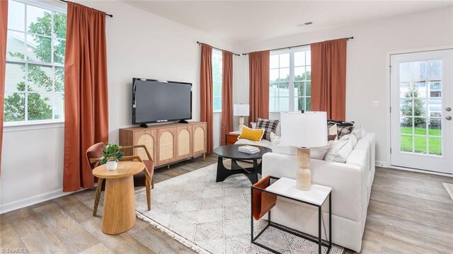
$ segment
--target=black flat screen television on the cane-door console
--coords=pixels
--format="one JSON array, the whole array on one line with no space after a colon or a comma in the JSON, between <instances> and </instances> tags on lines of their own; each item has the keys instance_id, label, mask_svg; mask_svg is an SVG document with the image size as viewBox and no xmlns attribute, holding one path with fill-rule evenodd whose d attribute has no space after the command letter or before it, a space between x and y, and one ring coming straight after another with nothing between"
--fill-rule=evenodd
<instances>
[{"instance_id":1,"label":"black flat screen television on the cane-door console","mask_svg":"<svg viewBox=\"0 0 453 254\"><path fill-rule=\"evenodd\" d=\"M132 124L192 119L192 83L132 79Z\"/></svg>"}]
</instances>

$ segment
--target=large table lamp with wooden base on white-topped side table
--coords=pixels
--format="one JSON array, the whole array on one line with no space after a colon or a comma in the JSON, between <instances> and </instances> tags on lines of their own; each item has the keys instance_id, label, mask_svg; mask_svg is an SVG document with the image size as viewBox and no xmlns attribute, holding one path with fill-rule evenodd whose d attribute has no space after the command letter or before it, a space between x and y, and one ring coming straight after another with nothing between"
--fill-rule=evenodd
<instances>
[{"instance_id":1,"label":"large table lamp with wooden base on white-topped side table","mask_svg":"<svg viewBox=\"0 0 453 254\"><path fill-rule=\"evenodd\" d=\"M310 147L327 145L326 112L282 112L282 145L297 146L296 187L310 190Z\"/></svg>"}]
</instances>

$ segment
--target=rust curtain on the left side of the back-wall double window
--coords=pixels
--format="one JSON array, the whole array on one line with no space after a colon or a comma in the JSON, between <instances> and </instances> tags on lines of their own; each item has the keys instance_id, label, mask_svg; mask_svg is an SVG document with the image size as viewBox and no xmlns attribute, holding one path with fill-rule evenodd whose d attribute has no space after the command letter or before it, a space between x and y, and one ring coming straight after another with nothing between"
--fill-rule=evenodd
<instances>
[{"instance_id":1,"label":"rust curtain on the left side of the back-wall double window","mask_svg":"<svg viewBox=\"0 0 453 254\"><path fill-rule=\"evenodd\" d=\"M269 50L248 54L250 80L248 122L269 118Z\"/></svg>"}]
</instances>

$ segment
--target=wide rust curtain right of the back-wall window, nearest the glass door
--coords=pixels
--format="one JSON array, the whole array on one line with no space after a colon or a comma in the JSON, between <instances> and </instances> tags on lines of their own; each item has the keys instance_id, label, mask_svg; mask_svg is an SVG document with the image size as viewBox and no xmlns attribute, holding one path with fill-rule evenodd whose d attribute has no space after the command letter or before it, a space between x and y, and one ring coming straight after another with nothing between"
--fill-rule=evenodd
<instances>
[{"instance_id":1,"label":"wide rust curtain right of the back-wall window, nearest the glass door","mask_svg":"<svg viewBox=\"0 0 453 254\"><path fill-rule=\"evenodd\" d=\"M311 110L326 111L328 119L346 117L346 42L311 44Z\"/></svg>"}]
</instances>

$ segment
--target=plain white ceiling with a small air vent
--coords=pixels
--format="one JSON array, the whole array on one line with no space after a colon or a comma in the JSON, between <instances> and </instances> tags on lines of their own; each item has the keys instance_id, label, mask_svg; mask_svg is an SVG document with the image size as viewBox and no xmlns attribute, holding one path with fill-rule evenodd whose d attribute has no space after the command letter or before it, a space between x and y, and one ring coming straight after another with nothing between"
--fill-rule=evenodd
<instances>
[{"instance_id":1,"label":"plain white ceiling with a small air vent","mask_svg":"<svg viewBox=\"0 0 453 254\"><path fill-rule=\"evenodd\" d=\"M453 1L133 1L231 42L252 42L452 6ZM313 25L297 26L313 22Z\"/></svg>"}]
</instances>

